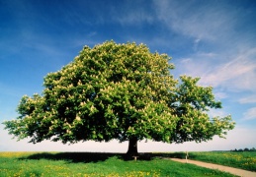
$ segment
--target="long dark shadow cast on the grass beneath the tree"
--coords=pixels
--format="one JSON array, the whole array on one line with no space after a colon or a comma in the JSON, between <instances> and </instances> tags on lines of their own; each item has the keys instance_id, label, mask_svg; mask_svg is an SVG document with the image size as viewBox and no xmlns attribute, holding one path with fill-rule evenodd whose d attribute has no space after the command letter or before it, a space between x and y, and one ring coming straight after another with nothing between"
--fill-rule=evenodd
<instances>
[{"instance_id":1,"label":"long dark shadow cast on the grass beneath the tree","mask_svg":"<svg viewBox=\"0 0 256 177\"><path fill-rule=\"evenodd\" d=\"M48 160L65 160L70 163L90 163L105 161L111 157L117 156L119 159L128 160L151 160L153 158L185 158L185 153L138 153L136 156L129 156L126 153L108 153L108 152L39 152L29 156L20 157L19 159L48 159Z\"/></svg>"}]
</instances>

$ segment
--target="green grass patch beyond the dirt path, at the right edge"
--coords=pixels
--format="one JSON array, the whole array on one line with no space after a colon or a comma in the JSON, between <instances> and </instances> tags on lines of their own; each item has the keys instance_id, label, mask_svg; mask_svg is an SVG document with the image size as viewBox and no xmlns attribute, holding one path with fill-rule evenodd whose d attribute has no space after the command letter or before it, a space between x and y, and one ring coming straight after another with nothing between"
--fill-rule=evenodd
<instances>
[{"instance_id":1,"label":"green grass patch beyond the dirt path, at the right edge","mask_svg":"<svg viewBox=\"0 0 256 177\"><path fill-rule=\"evenodd\" d=\"M185 158L185 152L167 153L168 156ZM165 154L165 155L167 155ZM256 151L201 151L189 152L189 159L256 171Z\"/></svg>"}]
</instances>

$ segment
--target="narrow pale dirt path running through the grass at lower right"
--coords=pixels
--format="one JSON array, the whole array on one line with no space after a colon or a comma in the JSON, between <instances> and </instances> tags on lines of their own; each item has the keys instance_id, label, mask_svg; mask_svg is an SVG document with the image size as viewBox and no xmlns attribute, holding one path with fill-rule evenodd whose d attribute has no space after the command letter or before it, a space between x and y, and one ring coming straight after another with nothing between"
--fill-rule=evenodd
<instances>
[{"instance_id":1,"label":"narrow pale dirt path running through the grass at lower right","mask_svg":"<svg viewBox=\"0 0 256 177\"><path fill-rule=\"evenodd\" d=\"M242 176L242 177L256 177L256 172L246 171L246 170L242 170L242 169L238 169L238 168L232 168L232 167L228 167L228 166L222 166L222 165L217 165L217 164L213 164L213 163L206 163L206 162L196 161L196 160L191 160L191 159L186 160L186 159L179 159L179 158L171 158L171 160L182 162L182 163L192 163L192 164L196 164L198 166L217 169L217 170L225 171L225 172L228 172L228 173L231 173L234 175L238 175L238 176Z\"/></svg>"}]
</instances>

